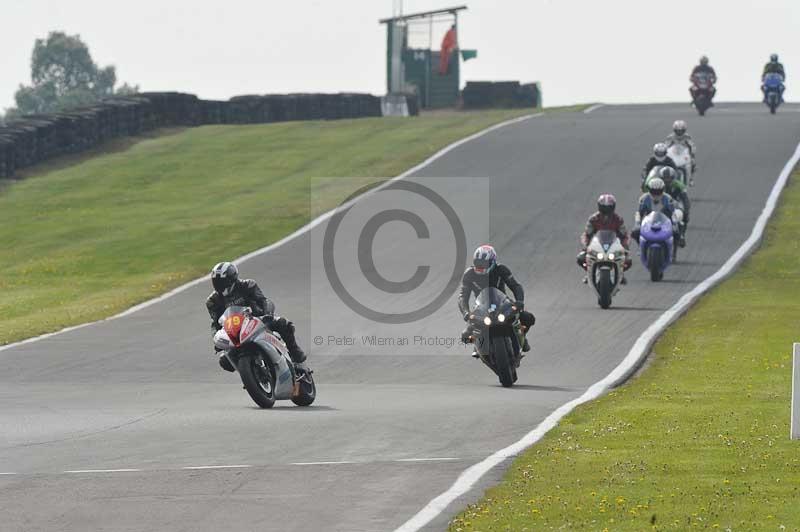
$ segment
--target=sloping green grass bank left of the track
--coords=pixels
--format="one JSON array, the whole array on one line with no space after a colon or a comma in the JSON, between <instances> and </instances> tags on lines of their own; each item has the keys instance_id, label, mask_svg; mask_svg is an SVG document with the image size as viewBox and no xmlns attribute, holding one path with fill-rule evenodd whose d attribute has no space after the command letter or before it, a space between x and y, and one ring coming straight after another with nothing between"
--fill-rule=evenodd
<instances>
[{"instance_id":1,"label":"sloping green grass bank left of the track","mask_svg":"<svg viewBox=\"0 0 800 532\"><path fill-rule=\"evenodd\" d=\"M353 191L342 180L329 204L312 206L315 177L392 177L530 112L206 126L27 172L0 189L0 344L111 316L280 239L312 207Z\"/></svg>"}]
</instances>

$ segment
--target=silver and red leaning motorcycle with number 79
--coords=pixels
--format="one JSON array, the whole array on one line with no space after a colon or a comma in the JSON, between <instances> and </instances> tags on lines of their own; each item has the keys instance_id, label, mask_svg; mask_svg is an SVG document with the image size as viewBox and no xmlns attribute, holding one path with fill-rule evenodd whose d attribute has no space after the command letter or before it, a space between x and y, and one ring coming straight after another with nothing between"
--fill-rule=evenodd
<instances>
[{"instance_id":1,"label":"silver and red leaning motorcycle with number 79","mask_svg":"<svg viewBox=\"0 0 800 532\"><path fill-rule=\"evenodd\" d=\"M272 408L276 400L284 399L297 406L314 402L317 388L312 372L295 367L280 335L253 316L250 307L228 307L219 324L222 329L214 335L214 346L239 372L258 406Z\"/></svg>"}]
</instances>

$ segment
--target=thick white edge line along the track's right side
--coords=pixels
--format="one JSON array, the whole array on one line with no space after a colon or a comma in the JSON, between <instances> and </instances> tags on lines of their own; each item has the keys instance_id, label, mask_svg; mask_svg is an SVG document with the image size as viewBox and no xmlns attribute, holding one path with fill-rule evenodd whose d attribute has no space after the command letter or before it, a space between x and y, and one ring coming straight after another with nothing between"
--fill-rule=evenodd
<instances>
[{"instance_id":1,"label":"thick white edge line along the track's right side","mask_svg":"<svg viewBox=\"0 0 800 532\"><path fill-rule=\"evenodd\" d=\"M786 186L786 181L789 179L792 170L800 161L800 144L795 148L794 155L787 161L786 165L772 187L772 191L767 197L767 203L764 210L756 219L753 231L744 243L725 261L719 270L714 272L710 277L706 278L703 282L695 286L692 290L684 294L672 307L659 316L645 331L639 336L636 342L631 347L627 356L614 368L603 380L594 383L589 387L583 395L561 405L556 411L547 416L544 421L539 423L532 431L522 437L516 443L500 449L491 456L485 458L483 461L464 470L461 475L456 479L450 488L438 497L431 500L422 510L417 512L411 519L398 527L395 532L416 532L422 527L430 523L433 519L442 514L447 506L450 505L456 498L465 494L472 488L472 486L489 470L494 468L500 462L507 458L516 456L524 451L537 441L539 441L547 432L555 427L558 422L569 414L576 406L597 399L612 387L620 384L622 381L629 377L633 368L636 368L644 358L647 357L650 347L655 342L656 338L681 314L683 314L692 303L700 296L705 294L710 288L719 283L722 279L727 277L733 272L736 266L745 259L753 248L761 241L764 234L764 229L767 226L769 218L775 211L775 206L778 203L783 188Z\"/></svg>"}]
</instances>

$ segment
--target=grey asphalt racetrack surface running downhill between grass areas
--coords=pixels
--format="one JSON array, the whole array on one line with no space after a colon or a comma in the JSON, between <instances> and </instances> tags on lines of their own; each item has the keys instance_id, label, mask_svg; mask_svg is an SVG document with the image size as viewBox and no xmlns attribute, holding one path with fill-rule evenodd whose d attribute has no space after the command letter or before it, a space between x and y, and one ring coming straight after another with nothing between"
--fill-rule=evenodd
<instances>
[{"instance_id":1,"label":"grey asphalt racetrack surface running downhill between grass areas","mask_svg":"<svg viewBox=\"0 0 800 532\"><path fill-rule=\"evenodd\" d=\"M410 178L455 206L474 209L483 198L475 211L482 223L467 227L469 250L483 230L537 316L512 389L460 347L315 347L317 332L457 337L463 325L454 295L399 329L354 315L313 265L325 223L240 265L297 323L319 386L308 409L255 408L238 376L219 369L206 284L0 351L0 530L396 528L465 468L608 374L661 312L719 268L749 235L794 152L798 111L787 105L770 116L758 104L719 104L699 118L687 105L651 105L544 115L468 142ZM632 222L641 166L678 118L700 151L689 245L662 283L636 261L603 311L580 283L577 235L602 192L616 194ZM379 203L375 196L364 203ZM417 263L452 269L452 249L414 247L417 240L403 224L387 224L374 242L376 269L395 280ZM339 272L361 286L358 268ZM423 299L396 296L383 308ZM186 469L207 466L249 467ZM492 470L428 528L446 528L502 473Z\"/></svg>"}]
</instances>

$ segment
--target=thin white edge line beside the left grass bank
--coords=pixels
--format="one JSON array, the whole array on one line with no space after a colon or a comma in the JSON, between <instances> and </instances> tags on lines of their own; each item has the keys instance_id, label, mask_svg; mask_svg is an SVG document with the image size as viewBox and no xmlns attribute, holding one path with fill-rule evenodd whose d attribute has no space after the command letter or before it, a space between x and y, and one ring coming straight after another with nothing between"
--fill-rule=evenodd
<instances>
[{"instance_id":1,"label":"thin white edge line beside the left grass bank","mask_svg":"<svg viewBox=\"0 0 800 532\"><path fill-rule=\"evenodd\" d=\"M498 124L494 124L492 126L489 126L489 127L485 128L485 129L482 129L482 130L480 130L480 131L478 131L476 133L473 133L472 135L469 135L468 137L464 137L463 139L459 139L459 140L457 140L457 141L455 141L455 142L453 142L451 144L448 144L447 146L445 146L441 150L437 151L436 153L434 153L433 155L431 155L430 157L428 157L427 159L425 159L424 161L422 161L418 165L414 166L413 168L411 168L409 170L406 170L405 172L403 172L402 174L400 174L400 175L398 175L396 177L393 177L393 178L387 180L382 185L371 189L370 191L366 192L365 194L362 194L362 195L358 196L357 198L354 198L353 201L361 200L364 197L368 196L369 194L375 193L378 190L388 186L390 183L392 183L394 181L397 181L397 180L400 180L400 179L405 179L406 177L409 177L411 174L421 170L422 168L425 168L426 166L430 165L434 161L442 158L447 153L453 151L454 149L458 148L459 146L461 146L463 144L466 144L467 142L471 142L471 141L473 141L475 139L478 139L478 138L486 135L487 133L491 133L492 131L495 131L495 130L500 129L502 127L510 126L512 124L517 124L517 123L523 122L525 120L530 120L531 118L537 118L537 117L542 116L544 114L545 114L544 112L538 112L538 113L532 113L532 114L529 114L529 115L519 116L517 118L512 118L510 120L506 120L505 122L500 122ZM239 257L238 259L235 259L233 262L235 262L237 264L241 264L241 263L243 263L245 261L248 261L248 260L250 260L250 259L252 259L254 257L269 253L270 251L283 246L284 244L286 244L286 243L294 240L295 238L297 238L299 236L302 236L305 233L307 233L307 232L311 231L312 229L314 229L316 226L318 226L319 224L321 224L322 222L324 222L325 220L327 220L328 218L333 216L339 210L339 208L340 207L337 207L335 209L331 209L330 211L327 211L324 214L321 214L320 216L318 216L314 220L311 220L310 222L308 222L303 227L300 227L295 232L283 237L282 239L278 240L277 242L269 244L268 246L264 246L263 248L257 249L256 251L250 252L250 253L248 253L246 255L243 255L243 256ZM151 307L151 306L153 306L153 305L155 305L157 303L161 303L164 300L167 300L167 299L169 299L169 298L171 298L171 297L173 297L175 295L178 295L181 292L185 292L189 288L192 288L193 286L198 285L198 284L200 284L200 283L202 283L204 281L207 281L207 280L208 280L208 278L206 276L200 277L200 278L195 279L193 281L189 281L189 282L187 282L185 284L182 284L181 286L173 288L172 290L170 290L169 292L166 292L165 294L161 294L160 296L157 296L157 297L155 297L153 299L149 299L147 301L139 303L138 305L134 305L131 308L120 312L119 314L115 314L113 316L110 316L108 318L103 318L103 319L100 319L100 320L95 320L95 321L91 321L91 322L87 322L87 323L81 323L79 325L72 325L70 327L65 327L64 329L61 329L61 330L58 330L58 331L55 331L55 332L46 333L46 334L42 334L42 335L39 335L39 336L34 336L32 338L26 338L25 340L20 340L19 342L14 342L14 343L11 343L11 344L2 345L2 346L0 346L0 351L5 351L6 349L11 349L13 347L19 347L19 346L24 345L24 344L30 344L30 343L33 343L33 342L38 342L39 340L44 340L44 339L47 339L47 338L51 338L53 336L57 336L59 334L64 334L64 333L67 333L67 332L71 332L71 331L75 331L75 330L78 330L78 329L82 329L84 327L88 327L90 325L95 325L95 324L98 324L98 323L102 323L104 321L111 321L111 320L116 320L118 318L123 318L125 316L129 316L129 315L133 314L134 312L137 312L139 310L145 309L147 307Z\"/></svg>"}]
</instances>

